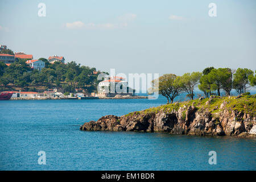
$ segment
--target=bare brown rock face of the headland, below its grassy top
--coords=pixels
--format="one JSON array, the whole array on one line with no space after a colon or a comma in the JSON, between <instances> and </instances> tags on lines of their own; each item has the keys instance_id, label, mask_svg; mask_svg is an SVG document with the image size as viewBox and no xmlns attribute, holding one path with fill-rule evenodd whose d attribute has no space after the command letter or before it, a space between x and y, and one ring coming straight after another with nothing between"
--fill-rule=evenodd
<instances>
[{"instance_id":1,"label":"bare brown rock face of the headland, below its grassy top","mask_svg":"<svg viewBox=\"0 0 256 182\"><path fill-rule=\"evenodd\" d=\"M211 101L206 101L211 102ZM98 121L84 123L84 131L143 131L171 134L255 137L255 115L225 109L223 102L212 113L196 106L180 106L178 109L156 112L134 112L117 117L106 115ZM205 104L204 104L205 105Z\"/></svg>"}]
</instances>

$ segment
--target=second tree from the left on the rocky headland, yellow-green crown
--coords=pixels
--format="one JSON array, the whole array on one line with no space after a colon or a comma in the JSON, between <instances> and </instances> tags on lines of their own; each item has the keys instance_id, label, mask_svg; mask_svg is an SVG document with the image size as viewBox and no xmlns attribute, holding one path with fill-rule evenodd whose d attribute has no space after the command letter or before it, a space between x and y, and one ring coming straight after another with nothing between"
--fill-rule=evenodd
<instances>
[{"instance_id":1,"label":"second tree from the left on the rocky headland, yellow-green crown","mask_svg":"<svg viewBox=\"0 0 256 182\"><path fill-rule=\"evenodd\" d=\"M188 93L187 96L193 100L195 96L194 88L199 84L201 77L202 73L200 72L185 73L183 76L176 78L175 85L179 85L182 90Z\"/></svg>"}]
</instances>

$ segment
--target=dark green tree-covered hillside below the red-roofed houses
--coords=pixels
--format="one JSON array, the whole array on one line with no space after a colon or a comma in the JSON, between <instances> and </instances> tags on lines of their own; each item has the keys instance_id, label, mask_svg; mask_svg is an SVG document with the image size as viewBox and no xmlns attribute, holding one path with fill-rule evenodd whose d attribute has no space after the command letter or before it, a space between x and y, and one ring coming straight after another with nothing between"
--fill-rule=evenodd
<instances>
[{"instance_id":1,"label":"dark green tree-covered hillside below the red-roofed houses","mask_svg":"<svg viewBox=\"0 0 256 182\"><path fill-rule=\"evenodd\" d=\"M26 60L19 59L9 67L0 61L1 90L43 91L52 88L61 88L64 92L75 92L76 89L85 92L96 92L98 81L96 68L71 63L51 64L45 58L45 68L41 72L30 68Z\"/></svg>"}]
</instances>

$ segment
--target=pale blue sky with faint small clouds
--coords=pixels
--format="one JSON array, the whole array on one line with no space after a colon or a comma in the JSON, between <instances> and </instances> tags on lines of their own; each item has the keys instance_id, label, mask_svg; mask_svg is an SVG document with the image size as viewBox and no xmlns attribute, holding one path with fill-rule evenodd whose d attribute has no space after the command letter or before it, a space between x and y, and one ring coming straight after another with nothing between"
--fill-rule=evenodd
<instances>
[{"instance_id":1,"label":"pale blue sky with faint small clouds","mask_svg":"<svg viewBox=\"0 0 256 182\"><path fill-rule=\"evenodd\" d=\"M38 16L39 3L46 16ZM210 17L209 3L216 4ZM256 69L256 1L0 0L0 44L116 73Z\"/></svg>"}]
</instances>

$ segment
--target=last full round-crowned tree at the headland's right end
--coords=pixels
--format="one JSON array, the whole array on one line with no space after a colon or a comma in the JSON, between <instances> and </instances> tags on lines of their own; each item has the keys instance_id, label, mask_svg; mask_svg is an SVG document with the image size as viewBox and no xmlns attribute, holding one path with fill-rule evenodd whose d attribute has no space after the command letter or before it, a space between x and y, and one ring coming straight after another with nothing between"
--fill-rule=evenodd
<instances>
[{"instance_id":1,"label":"last full round-crowned tree at the headland's right end","mask_svg":"<svg viewBox=\"0 0 256 182\"><path fill-rule=\"evenodd\" d=\"M233 80L233 88L237 90L237 93L246 93L246 90L250 87L249 84L249 77L250 80L253 81L253 71L247 68L238 68L236 73L234 73L234 80ZM253 83L252 83L253 84Z\"/></svg>"}]
</instances>

